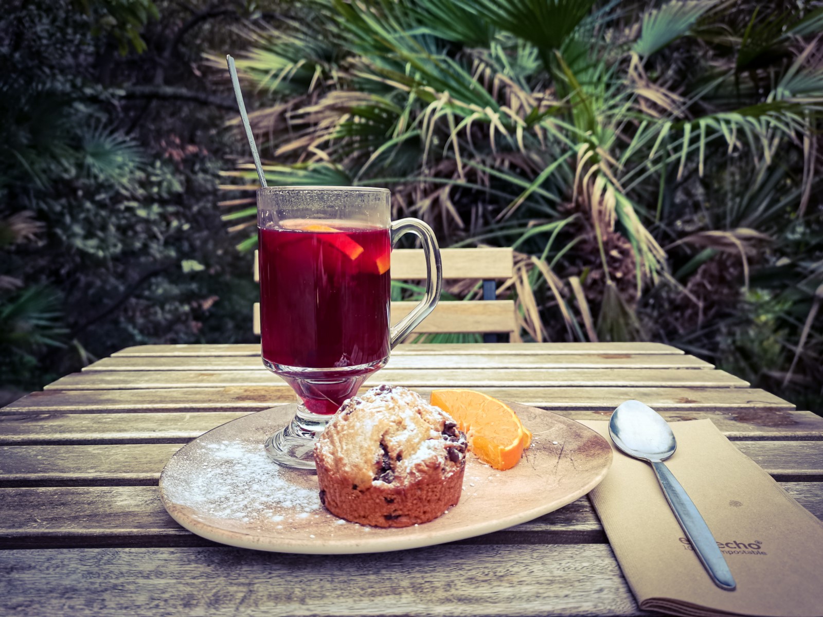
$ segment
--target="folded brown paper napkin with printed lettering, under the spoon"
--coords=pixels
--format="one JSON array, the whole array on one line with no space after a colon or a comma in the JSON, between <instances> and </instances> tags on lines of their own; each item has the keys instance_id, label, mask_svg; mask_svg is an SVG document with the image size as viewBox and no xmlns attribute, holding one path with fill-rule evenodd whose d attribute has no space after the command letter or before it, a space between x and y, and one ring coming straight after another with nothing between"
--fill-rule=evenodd
<instances>
[{"instance_id":1,"label":"folded brown paper napkin with printed lettering, under the spoon","mask_svg":"<svg viewBox=\"0 0 823 617\"><path fill-rule=\"evenodd\" d=\"M583 424L611 443L607 422ZM669 426L677 452L666 465L709 525L737 589L714 586L651 466L612 444L611 470L589 497L640 608L672 615L823 615L823 524L711 420Z\"/></svg>"}]
</instances>

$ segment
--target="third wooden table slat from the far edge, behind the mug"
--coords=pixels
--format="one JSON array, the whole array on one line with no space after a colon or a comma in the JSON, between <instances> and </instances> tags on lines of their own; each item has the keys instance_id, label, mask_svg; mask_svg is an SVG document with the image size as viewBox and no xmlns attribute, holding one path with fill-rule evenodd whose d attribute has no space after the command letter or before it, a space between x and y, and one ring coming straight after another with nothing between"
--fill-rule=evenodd
<instances>
[{"instance_id":1,"label":"third wooden table slat from the far edge, behind the mug","mask_svg":"<svg viewBox=\"0 0 823 617\"><path fill-rule=\"evenodd\" d=\"M112 390L160 387L270 386L283 383L267 371L88 371L72 373L44 389ZM406 387L746 387L720 370L693 369L383 369L367 383Z\"/></svg>"}]
</instances>

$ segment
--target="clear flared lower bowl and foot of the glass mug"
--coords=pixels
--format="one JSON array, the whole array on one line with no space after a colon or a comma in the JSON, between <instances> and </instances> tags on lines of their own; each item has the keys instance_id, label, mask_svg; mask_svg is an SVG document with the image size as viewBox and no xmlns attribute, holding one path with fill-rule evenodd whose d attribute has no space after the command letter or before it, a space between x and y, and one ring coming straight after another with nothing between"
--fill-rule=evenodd
<instances>
[{"instance_id":1,"label":"clear flared lower bowl and foot of the glass mug","mask_svg":"<svg viewBox=\"0 0 823 617\"><path fill-rule=\"evenodd\" d=\"M263 359L267 369L294 389L298 401L297 413L291 422L267 438L268 457L294 469L314 469L314 443L334 412L343 401L355 396L365 379L382 369L387 360L342 369L301 369Z\"/></svg>"}]
</instances>

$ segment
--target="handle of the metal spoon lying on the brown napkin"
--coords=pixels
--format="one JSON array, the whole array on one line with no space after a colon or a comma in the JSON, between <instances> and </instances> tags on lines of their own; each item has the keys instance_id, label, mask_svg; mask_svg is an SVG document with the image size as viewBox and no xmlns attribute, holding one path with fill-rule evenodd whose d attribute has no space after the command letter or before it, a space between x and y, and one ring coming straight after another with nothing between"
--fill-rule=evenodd
<instances>
[{"instance_id":1,"label":"handle of the metal spoon lying on the brown napkin","mask_svg":"<svg viewBox=\"0 0 823 617\"><path fill-rule=\"evenodd\" d=\"M663 462L651 461L651 463L654 473L658 476L660 488L663 489L663 494L672 506L677 522L680 523L695 553L700 558L700 563L706 568L706 572L709 573L715 585L732 591L737 587L732 571L728 569L726 559L720 552L709 526L697 511L695 503Z\"/></svg>"}]
</instances>

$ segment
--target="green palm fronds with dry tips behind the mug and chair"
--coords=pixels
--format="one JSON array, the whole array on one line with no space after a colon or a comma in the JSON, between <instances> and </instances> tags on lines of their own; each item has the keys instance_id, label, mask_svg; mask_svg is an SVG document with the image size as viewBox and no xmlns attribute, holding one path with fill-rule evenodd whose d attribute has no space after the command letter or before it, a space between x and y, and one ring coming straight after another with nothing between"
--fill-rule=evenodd
<instances>
[{"instance_id":1,"label":"green palm fronds with dry tips behind the mug and chair","mask_svg":"<svg viewBox=\"0 0 823 617\"><path fill-rule=\"evenodd\" d=\"M524 339L651 338L787 397L821 383L819 2L291 10L237 60L271 183L388 186L441 244L514 246Z\"/></svg>"}]
</instances>

